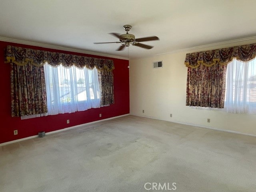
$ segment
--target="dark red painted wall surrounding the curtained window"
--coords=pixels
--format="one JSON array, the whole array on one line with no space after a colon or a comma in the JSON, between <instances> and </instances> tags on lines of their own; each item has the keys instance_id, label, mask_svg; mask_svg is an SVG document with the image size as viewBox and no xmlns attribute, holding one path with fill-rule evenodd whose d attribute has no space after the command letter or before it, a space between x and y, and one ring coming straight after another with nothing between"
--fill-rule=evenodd
<instances>
[{"instance_id":1,"label":"dark red painted wall surrounding the curtained window","mask_svg":"<svg viewBox=\"0 0 256 192\"><path fill-rule=\"evenodd\" d=\"M0 117L2 120L2 126L0 127L0 143L20 138L26 138L29 136L34 136L37 135L40 131L50 132L54 130L60 130L70 126L75 126L79 124L102 120L105 118L128 114L130 112L128 69L129 61L116 58L107 58L114 60L115 65L115 69L113 70L115 101L114 104L108 107L89 109L83 112L49 115L26 120L21 120L20 117L11 117L10 64L4 63L4 48L6 48L7 45L20 46L24 48L33 48L39 50L48 50L52 52L62 52L66 54L77 54L83 56L90 56L94 58L106 58L101 56L93 56L88 54L80 54L62 50L54 50L0 41ZM102 114L102 117L99 117L100 113ZM67 119L70 120L70 124L66 123ZM18 135L14 135L14 130L18 130Z\"/></svg>"}]
</instances>

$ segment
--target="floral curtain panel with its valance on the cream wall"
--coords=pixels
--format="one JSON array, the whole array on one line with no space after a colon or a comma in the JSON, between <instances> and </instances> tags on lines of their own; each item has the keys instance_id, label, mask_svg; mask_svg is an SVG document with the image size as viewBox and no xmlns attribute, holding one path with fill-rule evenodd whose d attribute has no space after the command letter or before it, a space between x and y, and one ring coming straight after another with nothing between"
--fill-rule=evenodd
<instances>
[{"instance_id":1,"label":"floral curtain panel with its valance on the cream wall","mask_svg":"<svg viewBox=\"0 0 256 192\"><path fill-rule=\"evenodd\" d=\"M249 61L256 44L186 54L187 106L224 108L226 68L233 58Z\"/></svg>"}]
</instances>

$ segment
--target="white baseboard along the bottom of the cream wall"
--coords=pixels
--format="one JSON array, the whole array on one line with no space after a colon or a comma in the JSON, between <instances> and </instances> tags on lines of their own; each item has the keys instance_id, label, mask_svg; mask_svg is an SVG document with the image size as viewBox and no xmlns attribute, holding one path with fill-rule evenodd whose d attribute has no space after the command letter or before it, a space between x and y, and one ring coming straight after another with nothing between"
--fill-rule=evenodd
<instances>
[{"instance_id":1,"label":"white baseboard along the bottom of the cream wall","mask_svg":"<svg viewBox=\"0 0 256 192\"><path fill-rule=\"evenodd\" d=\"M131 114L131 115L133 115L133 114ZM168 120L164 120L164 119L156 118L156 117L151 117L151 116L141 116L141 115L134 115L134 116L144 117L144 118L150 118L150 119L157 119L157 120L161 120L161 121L168 121ZM216 130L216 131L223 131L223 132L228 132L228 133L235 133L235 134L240 134L240 135L246 135L246 136L256 137L256 135L254 135L254 134L242 133L242 132L231 131L231 130L226 130L226 129L219 129L219 128L214 128L214 127L209 127L209 126L203 126L203 125L197 125L197 124L191 124L191 123L186 123L186 122L179 122L179 121L168 121L168 122L173 122L173 123L178 123L178 124L183 124L183 125L189 125L189 126L194 126L194 127L202 127L202 128L211 129L211 130Z\"/></svg>"}]
</instances>

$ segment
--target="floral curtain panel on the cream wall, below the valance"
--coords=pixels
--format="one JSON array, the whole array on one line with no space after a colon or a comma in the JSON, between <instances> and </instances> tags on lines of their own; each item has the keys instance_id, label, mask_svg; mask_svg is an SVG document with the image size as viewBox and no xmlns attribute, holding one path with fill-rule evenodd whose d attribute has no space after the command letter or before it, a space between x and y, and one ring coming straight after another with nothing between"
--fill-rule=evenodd
<instances>
[{"instance_id":1,"label":"floral curtain panel on the cream wall, below the valance","mask_svg":"<svg viewBox=\"0 0 256 192\"><path fill-rule=\"evenodd\" d=\"M187 106L224 108L226 65L188 67Z\"/></svg>"}]
</instances>

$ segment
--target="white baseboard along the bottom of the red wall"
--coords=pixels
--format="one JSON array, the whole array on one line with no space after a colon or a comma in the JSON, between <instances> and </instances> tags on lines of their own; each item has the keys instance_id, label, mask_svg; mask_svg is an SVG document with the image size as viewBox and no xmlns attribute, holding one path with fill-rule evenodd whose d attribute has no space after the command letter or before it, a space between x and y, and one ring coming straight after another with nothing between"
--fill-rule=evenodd
<instances>
[{"instance_id":1,"label":"white baseboard along the bottom of the red wall","mask_svg":"<svg viewBox=\"0 0 256 192\"><path fill-rule=\"evenodd\" d=\"M82 126L89 125L89 124L94 124L94 123L98 123L98 122L102 122L102 121L106 121L106 120L111 120L111 119L115 119L115 118L119 118L119 117L124 117L124 116L127 116L127 115L130 115L130 114L124 114L124 115L110 117L110 118L106 118L106 119L102 119L102 120L98 120L98 121L88 122L88 123L84 123L84 124L80 124L80 125L76 125L76 126L72 126L72 127L67 127L67 128L64 128L64 129L56 130L56 131L46 132L45 134L49 135L49 134L53 134L53 133L58 133L58 132L62 132L62 131L66 131L66 130L69 130L69 129L82 127ZM21 139L17 139L17 140L13 140L13 141L8 141L8 142L5 142L5 143L0 143L0 146L4 146L4 145L11 144L11 143L16 143L16 142L19 142L19 141L24 141L24 140L32 139L32 138L36 138L36 137L38 137L38 135L34 135L34 136L26 137L26 138L21 138Z\"/></svg>"}]
</instances>

